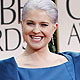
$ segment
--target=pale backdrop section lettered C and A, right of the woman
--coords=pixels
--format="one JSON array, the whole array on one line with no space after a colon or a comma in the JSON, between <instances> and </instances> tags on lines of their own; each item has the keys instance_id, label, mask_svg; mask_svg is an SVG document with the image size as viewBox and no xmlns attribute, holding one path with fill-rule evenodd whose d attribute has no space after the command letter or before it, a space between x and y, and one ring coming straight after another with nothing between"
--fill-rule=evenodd
<instances>
[{"instance_id":1,"label":"pale backdrop section lettered C and A, right of the woman","mask_svg":"<svg viewBox=\"0 0 80 80\"><path fill-rule=\"evenodd\" d=\"M59 52L80 52L80 0L57 0Z\"/></svg>"}]
</instances>

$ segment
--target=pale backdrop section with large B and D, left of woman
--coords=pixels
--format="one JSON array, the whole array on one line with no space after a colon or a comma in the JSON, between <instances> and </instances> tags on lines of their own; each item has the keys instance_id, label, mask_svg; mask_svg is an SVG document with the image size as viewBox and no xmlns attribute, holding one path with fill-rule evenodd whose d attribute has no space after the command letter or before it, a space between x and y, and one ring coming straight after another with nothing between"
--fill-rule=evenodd
<instances>
[{"instance_id":1,"label":"pale backdrop section with large B and D, left of woman","mask_svg":"<svg viewBox=\"0 0 80 80\"><path fill-rule=\"evenodd\" d=\"M0 59L18 57L25 48L20 25L27 0L0 0Z\"/></svg>"}]
</instances>

